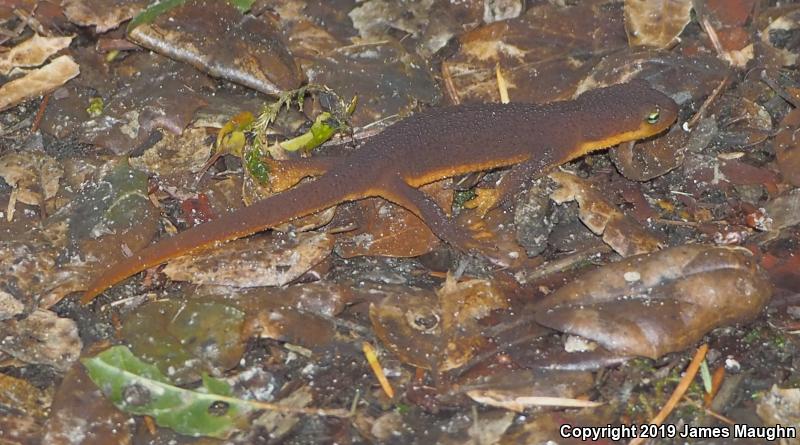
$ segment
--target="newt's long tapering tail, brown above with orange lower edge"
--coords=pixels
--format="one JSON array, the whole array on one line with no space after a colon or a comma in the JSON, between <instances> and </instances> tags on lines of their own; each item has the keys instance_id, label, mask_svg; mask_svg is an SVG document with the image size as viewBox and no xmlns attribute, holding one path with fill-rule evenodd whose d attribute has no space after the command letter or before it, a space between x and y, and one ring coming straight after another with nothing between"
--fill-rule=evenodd
<instances>
[{"instance_id":1,"label":"newt's long tapering tail, brown above with orange lower edge","mask_svg":"<svg viewBox=\"0 0 800 445\"><path fill-rule=\"evenodd\" d=\"M81 302L88 303L99 293L125 278L172 258L196 253L219 243L251 235L291 219L365 196L364 192L350 190L352 188L352 184L349 186L341 184L341 181L333 175L324 175L316 181L301 184L244 209L226 213L213 221L163 239L104 270L89 285Z\"/></svg>"}]
</instances>

